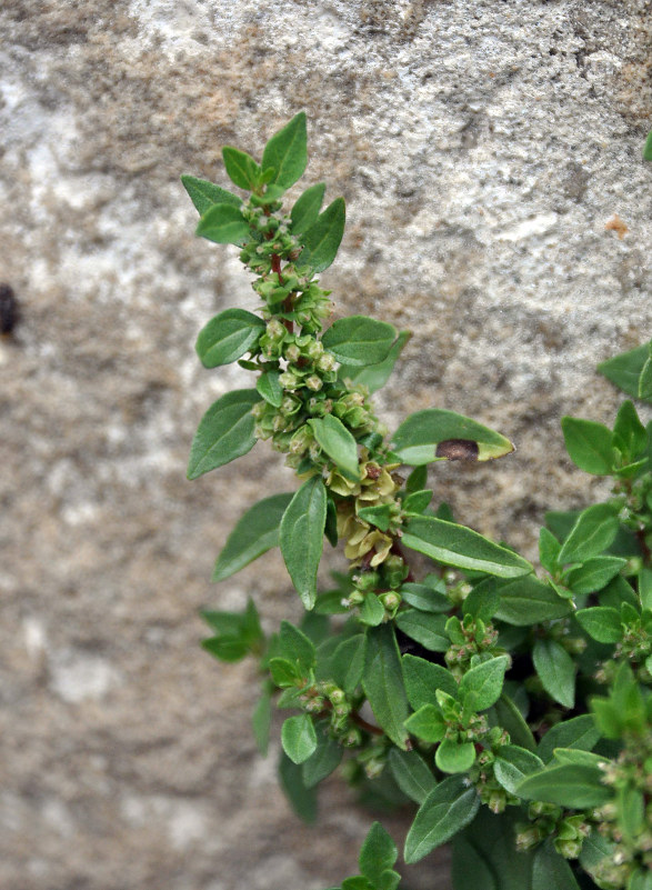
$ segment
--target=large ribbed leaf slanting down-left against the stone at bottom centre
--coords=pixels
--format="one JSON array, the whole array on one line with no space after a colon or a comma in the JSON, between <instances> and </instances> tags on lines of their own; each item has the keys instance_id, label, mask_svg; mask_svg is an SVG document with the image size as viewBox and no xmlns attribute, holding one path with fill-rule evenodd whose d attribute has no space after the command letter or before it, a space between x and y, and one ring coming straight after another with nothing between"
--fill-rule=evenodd
<instances>
[{"instance_id":1,"label":"large ribbed leaf slanting down-left against the stone at bottom centre","mask_svg":"<svg viewBox=\"0 0 652 890\"><path fill-rule=\"evenodd\" d=\"M473 820L480 807L474 788L467 788L461 776L451 776L425 798L405 839L404 859L418 862L441 847Z\"/></svg>"}]
</instances>

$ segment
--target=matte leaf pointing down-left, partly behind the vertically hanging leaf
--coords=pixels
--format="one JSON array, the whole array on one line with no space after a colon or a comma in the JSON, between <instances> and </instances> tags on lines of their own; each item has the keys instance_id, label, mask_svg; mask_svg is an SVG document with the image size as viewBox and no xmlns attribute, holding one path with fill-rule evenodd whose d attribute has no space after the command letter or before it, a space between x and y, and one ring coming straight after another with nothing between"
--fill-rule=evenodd
<instances>
[{"instance_id":1,"label":"matte leaf pointing down-left, partly behind the vertically hanging leaf","mask_svg":"<svg viewBox=\"0 0 652 890\"><path fill-rule=\"evenodd\" d=\"M272 494L254 503L238 521L220 553L212 580L223 581L279 544L279 527L292 494Z\"/></svg>"}]
</instances>

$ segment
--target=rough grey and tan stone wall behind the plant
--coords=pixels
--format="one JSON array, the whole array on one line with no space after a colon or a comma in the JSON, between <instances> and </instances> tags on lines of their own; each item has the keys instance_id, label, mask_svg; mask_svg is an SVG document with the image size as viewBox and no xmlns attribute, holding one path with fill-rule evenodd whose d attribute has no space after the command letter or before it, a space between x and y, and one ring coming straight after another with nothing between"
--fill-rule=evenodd
<instances>
[{"instance_id":1,"label":"rough grey and tan stone wall behind the plant","mask_svg":"<svg viewBox=\"0 0 652 890\"><path fill-rule=\"evenodd\" d=\"M510 458L431 481L532 557L546 509L604 490L560 417L610 421L594 366L651 334L651 19L644 0L3 0L0 281L22 317L0 342L0 887L319 890L371 818L335 780L302 828L249 733L252 666L198 647L201 606L297 614L278 553L209 584L240 513L294 483L262 446L184 479L202 412L249 386L203 371L194 338L254 300L234 250L193 237L180 173L224 183L224 143L260 153L305 109L305 181L348 202L337 311L413 331L382 417L440 406L510 436ZM430 863L409 887L435 884Z\"/></svg>"}]
</instances>

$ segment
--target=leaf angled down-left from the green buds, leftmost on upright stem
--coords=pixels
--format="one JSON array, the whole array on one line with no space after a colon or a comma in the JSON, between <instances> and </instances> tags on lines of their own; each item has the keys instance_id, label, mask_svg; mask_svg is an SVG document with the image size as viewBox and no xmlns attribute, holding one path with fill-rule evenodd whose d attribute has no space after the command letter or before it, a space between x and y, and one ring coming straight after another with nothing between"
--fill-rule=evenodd
<instances>
[{"instance_id":1,"label":"leaf angled down-left from the green buds, leftmost on upright stem","mask_svg":"<svg viewBox=\"0 0 652 890\"><path fill-rule=\"evenodd\" d=\"M254 389L237 389L211 404L192 440L189 479L197 479L251 451L255 444L251 409L259 401Z\"/></svg>"}]
</instances>

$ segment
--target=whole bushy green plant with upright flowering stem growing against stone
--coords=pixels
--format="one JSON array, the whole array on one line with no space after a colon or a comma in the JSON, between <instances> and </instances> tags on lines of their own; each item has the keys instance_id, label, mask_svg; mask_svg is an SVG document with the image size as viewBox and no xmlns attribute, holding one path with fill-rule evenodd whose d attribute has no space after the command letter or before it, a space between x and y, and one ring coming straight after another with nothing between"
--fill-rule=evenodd
<instances>
[{"instance_id":1,"label":"whole bushy green plant with upright flowering stem growing against stone","mask_svg":"<svg viewBox=\"0 0 652 890\"><path fill-rule=\"evenodd\" d=\"M203 646L223 661L260 660L263 753L272 701L291 712L280 778L293 807L314 819L315 788L340 768L368 800L417 804L405 862L453 841L457 890L652 890L652 424L631 400L613 429L563 419L571 459L613 490L548 514L538 576L445 503L430 506L428 464L499 458L511 442L440 409L388 434L371 393L408 333L363 316L324 330L331 303L315 276L338 251L344 202L321 210L319 183L282 209L307 164L304 116L270 139L261 163L234 148L223 158L245 200L193 177L183 184L198 233L238 246L261 307L221 312L197 351L207 368L239 361L257 380L208 410L188 474L258 439L287 456L300 487L248 510L213 579L280 546L307 612L268 638L251 601L242 614L207 611ZM651 347L600 370L652 401ZM324 537L349 564L321 592ZM419 573L414 551L431 560ZM395 860L374 823L361 874L342 890L393 890Z\"/></svg>"}]
</instances>

